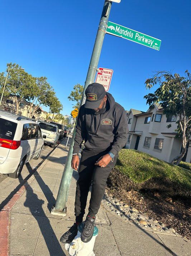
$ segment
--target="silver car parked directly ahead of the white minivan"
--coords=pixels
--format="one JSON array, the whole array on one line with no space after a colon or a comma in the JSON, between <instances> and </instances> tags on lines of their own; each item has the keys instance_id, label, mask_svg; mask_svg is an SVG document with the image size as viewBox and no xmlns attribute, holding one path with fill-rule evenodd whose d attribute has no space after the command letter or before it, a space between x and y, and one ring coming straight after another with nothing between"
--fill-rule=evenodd
<instances>
[{"instance_id":1,"label":"silver car parked directly ahead of the white minivan","mask_svg":"<svg viewBox=\"0 0 191 256\"><path fill-rule=\"evenodd\" d=\"M60 136L58 126L54 125L53 123L47 122L40 122L39 126L42 134L46 135L46 139L44 139L44 142L48 145L51 145L51 148L55 148Z\"/></svg>"}]
</instances>

